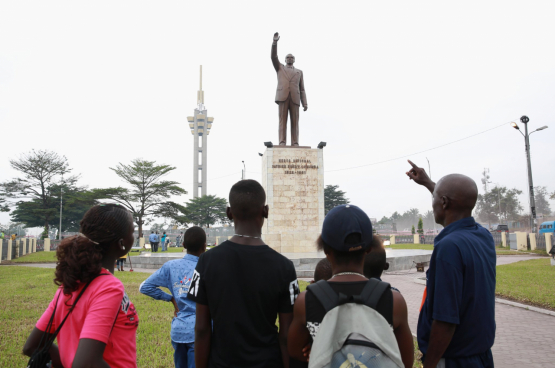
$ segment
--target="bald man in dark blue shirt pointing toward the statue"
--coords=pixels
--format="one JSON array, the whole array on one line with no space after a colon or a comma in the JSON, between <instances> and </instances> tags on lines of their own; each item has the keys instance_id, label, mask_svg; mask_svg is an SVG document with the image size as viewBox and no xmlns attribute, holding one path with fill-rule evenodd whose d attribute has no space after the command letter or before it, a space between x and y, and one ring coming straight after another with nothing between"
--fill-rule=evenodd
<instances>
[{"instance_id":1,"label":"bald man in dark blue shirt pointing toward the statue","mask_svg":"<svg viewBox=\"0 0 555 368\"><path fill-rule=\"evenodd\" d=\"M493 367L495 265L493 237L476 223L476 183L452 174L435 184L411 161L410 179L433 194L434 240L426 273L426 298L418 318L424 368Z\"/></svg>"}]
</instances>

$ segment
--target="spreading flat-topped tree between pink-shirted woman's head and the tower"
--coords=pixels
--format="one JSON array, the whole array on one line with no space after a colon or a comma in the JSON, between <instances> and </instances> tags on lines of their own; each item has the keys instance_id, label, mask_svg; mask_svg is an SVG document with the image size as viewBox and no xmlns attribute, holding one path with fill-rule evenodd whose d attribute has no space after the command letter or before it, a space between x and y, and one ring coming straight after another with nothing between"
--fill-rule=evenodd
<instances>
[{"instance_id":1,"label":"spreading flat-topped tree between pink-shirted woman's head and the tower","mask_svg":"<svg viewBox=\"0 0 555 368\"><path fill-rule=\"evenodd\" d=\"M114 200L133 213L133 218L143 233L143 224L149 216L162 216L178 211L179 205L169 201L170 196L187 194L176 181L163 180L163 177L175 170L170 165L157 165L156 161L135 159L131 164L119 163L110 168L126 184L126 187L100 189L104 198ZM182 208L182 207L181 207Z\"/></svg>"}]
</instances>

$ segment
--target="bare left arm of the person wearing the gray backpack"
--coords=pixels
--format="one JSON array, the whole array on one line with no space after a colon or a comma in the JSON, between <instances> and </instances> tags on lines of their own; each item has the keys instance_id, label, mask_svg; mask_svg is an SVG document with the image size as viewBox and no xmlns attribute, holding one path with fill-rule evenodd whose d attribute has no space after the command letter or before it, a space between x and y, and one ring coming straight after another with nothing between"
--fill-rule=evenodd
<instances>
[{"instance_id":1,"label":"bare left arm of the person wearing the gray backpack","mask_svg":"<svg viewBox=\"0 0 555 368\"><path fill-rule=\"evenodd\" d=\"M305 295L306 291L303 291L295 301L293 321L289 327L289 335L287 338L287 350L289 351L289 355L301 362L308 361L308 353L306 349L303 348L310 344L310 333L306 328Z\"/></svg>"}]
</instances>

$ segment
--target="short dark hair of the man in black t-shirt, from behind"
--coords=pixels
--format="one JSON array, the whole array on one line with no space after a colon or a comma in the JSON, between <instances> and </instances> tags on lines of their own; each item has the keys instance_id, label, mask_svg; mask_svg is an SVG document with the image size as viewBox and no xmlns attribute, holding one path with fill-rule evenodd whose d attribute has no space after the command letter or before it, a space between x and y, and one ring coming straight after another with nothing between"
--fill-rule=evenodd
<instances>
[{"instance_id":1,"label":"short dark hair of the man in black t-shirt, from behind","mask_svg":"<svg viewBox=\"0 0 555 368\"><path fill-rule=\"evenodd\" d=\"M266 203L266 192L256 180L241 180L229 191L229 206L238 220L256 218Z\"/></svg>"}]
</instances>

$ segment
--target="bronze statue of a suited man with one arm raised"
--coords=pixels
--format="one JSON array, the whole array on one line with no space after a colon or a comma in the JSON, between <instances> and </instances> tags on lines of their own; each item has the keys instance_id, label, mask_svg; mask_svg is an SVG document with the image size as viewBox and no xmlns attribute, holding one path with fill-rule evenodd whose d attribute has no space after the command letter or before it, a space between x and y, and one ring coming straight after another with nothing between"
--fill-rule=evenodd
<instances>
[{"instance_id":1,"label":"bronze statue of a suited man with one arm raised","mask_svg":"<svg viewBox=\"0 0 555 368\"><path fill-rule=\"evenodd\" d=\"M308 109L306 93L304 91L303 72L293 66L295 57L287 54L285 64L277 57L277 42L279 33L274 34L272 43L272 64L278 76L276 103L279 105L279 145L287 143L287 113L291 121L291 146L299 145L299 106L302 103L304 111Z\"/></svg>"}]
</instances>

